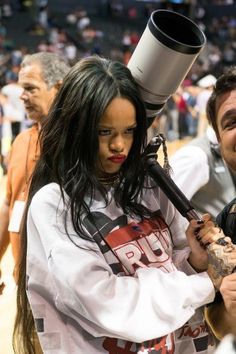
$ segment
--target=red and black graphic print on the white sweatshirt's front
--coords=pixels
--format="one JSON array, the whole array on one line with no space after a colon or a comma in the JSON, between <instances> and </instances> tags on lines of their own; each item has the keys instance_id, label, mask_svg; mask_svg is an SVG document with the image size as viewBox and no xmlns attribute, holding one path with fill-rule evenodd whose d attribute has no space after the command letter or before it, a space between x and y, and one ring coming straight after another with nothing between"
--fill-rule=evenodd
<instances>
[{"instance_id":1,"label":"red and black graphic print on the white sweatshirt's front","mask_svg":"<svg viewBox=\"0 0 236 354\"><path fill-rule=\"evenodd\" d=\"M128 220L125 215L112 220L107 214L92 212L85 217L83 224L97 242L114 274L134 275L140 267L155 267L163 272L176 270L171 257L170 230L159 210L151 218L140 222ZM201 353L208 347L208 331L206 327L202 329L202 323L201 318L197 321L195 319L193 324L186 324L188 331L186 332L186 327L182 334L178 331L179 338L176 333L170 333L142 344L105 338L103 348L109 354L141 354L144 351L152 354L173 354L177 349L176 345L179 347L182 341L190 340L192 353ZM199 333L199 337L195 338L193 333ZM189 349L189 344L187 347Z\"/></svg>"}]
</instances>

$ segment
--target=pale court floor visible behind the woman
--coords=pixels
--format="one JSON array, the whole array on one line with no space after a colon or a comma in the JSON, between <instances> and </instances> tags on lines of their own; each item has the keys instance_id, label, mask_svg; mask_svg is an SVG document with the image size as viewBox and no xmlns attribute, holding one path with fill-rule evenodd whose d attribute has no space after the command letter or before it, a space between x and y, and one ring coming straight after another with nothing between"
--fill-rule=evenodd
<instances>
[{"instance_id":1,"label":"pale court floor visible behind the woman","mask_svg":"<svg viewBox=\"0 0 236 354\"><path fill-rule=\"evenodd\" d=\"M168 143L169 156L187 141L181 140ZM163 155L161 149L158 152L158 161L162 164ZM0 178L0 202L4 198L5 183L6 178ZM10 247L1 262L1 269L6 287L3 295L0 295L0 354L14 354L12 349L12 330L16 310L16 286L12 277L13 259Z\"/></svg>"}]
</instances>

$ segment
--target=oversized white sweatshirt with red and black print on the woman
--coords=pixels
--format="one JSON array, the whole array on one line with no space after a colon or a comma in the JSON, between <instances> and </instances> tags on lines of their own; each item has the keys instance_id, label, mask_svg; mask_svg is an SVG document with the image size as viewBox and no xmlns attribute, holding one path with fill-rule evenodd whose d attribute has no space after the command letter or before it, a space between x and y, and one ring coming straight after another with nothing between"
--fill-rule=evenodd
<instances>
[{"instance_id":1,"label":"oversized white sweatshirt with red and black print on the woman","mask_svg":"<svg viewBox=\"0 0 236 354\"><path fill-rule=\"evenodd\" d=\"M105 207L95 196L91 219L82 220L96 242L75 234L69 214L67 236L57 184L32 200L27 293L44 353L212 353L197 309L215 291L207 273L189 265L189 249L180 249L182 217L158 188L145 191L153 217L144 221L127 218L109 198Z\"/></svg>"}]
</instances>

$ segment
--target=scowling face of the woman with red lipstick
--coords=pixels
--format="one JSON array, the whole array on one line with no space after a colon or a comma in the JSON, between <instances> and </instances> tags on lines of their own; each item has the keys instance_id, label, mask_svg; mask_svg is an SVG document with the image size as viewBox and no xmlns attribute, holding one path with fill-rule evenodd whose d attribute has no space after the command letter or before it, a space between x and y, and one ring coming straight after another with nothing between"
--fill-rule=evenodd
<instances>
[{"instance_id":1,"label":"scowling face of the woman with red lipstick","mask_svg":"<svg viewBox=\"0 0 236 354\"><path fill-rule=\"evenodd\" d=\"M98 126L98 174L120 170L131 149L136 126L134 105L125 98L114 98Z\"/></svg>"}]
</instances>

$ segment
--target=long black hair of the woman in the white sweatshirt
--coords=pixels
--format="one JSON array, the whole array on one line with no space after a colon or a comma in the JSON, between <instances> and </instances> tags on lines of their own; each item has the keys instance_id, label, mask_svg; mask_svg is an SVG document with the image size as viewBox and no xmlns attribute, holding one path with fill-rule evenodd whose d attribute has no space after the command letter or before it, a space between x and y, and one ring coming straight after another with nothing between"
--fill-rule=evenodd
<instances>
[{"instance_id":1,"label":"long black hair of the woman in the white sweatshirt","mask_svg":"<svg viewBox=\"0 0 236 354\"><path fill-rule=\"evenodd\" d=\"M62 197L64 191L69 196L68 212L74 229L84 238L86 235L78 216L81 212L89 212L90 204L85 203L85 196L90 193L92 201L95 191L99 190L108 202L106 189L96 177L98 124L116 97L126 98L134 105L137 128L120 171L121 182L115 189L114 198L125 213L143 217L148 210L139 203L138 195L145 175L141 154L146 144L147 120L138 85L126 66L97 56L80 60L65 77L40 133L41 156L32 178L27 205L41 187L50 182L57 183ZM25 289L26 249L25 217L13 342L15 353L22 354L23 350L24 354L33 354L37 352L37 338Z\"/></svg>"}]
</instances>

